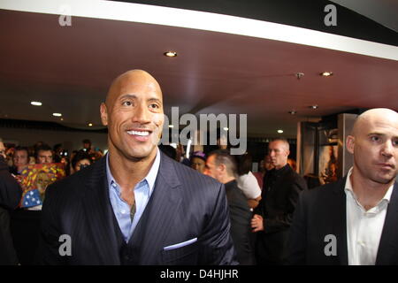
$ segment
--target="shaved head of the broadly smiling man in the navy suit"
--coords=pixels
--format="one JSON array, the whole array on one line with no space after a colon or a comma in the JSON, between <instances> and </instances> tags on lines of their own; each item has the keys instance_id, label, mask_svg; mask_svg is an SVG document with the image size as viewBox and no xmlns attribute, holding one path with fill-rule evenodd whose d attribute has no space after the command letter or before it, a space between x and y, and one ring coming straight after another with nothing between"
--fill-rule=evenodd
<instances>
[{"instance_id":1,"label":"shaved head of the broadly smiling man in the navy suit","mask_svg":"<svg viewBox=\"0 0 398 283\"><path fill-rule=\"evenodd\" d=\"M155 158L165 117L162 90L149 73L131 70L119 75L100 112L108 126L111 158L133 162Z\"/></svg>"}]
</instances>

